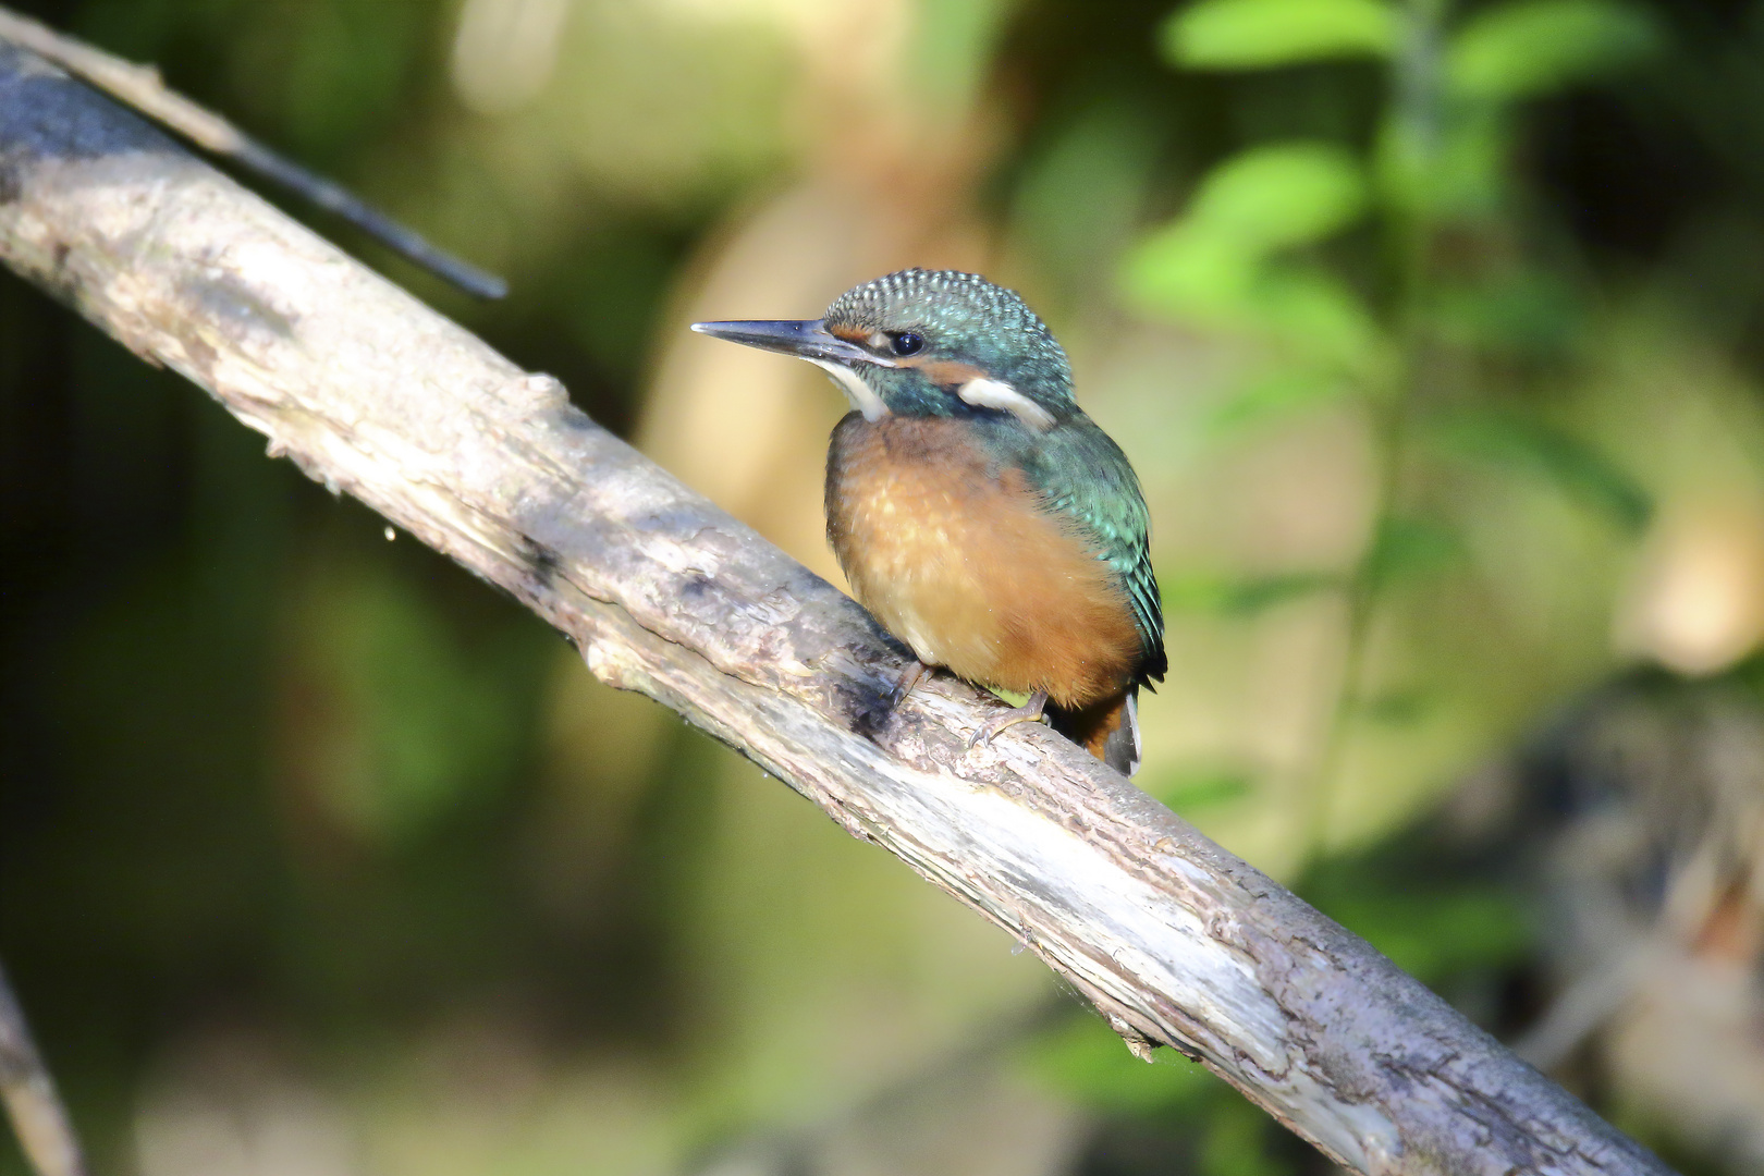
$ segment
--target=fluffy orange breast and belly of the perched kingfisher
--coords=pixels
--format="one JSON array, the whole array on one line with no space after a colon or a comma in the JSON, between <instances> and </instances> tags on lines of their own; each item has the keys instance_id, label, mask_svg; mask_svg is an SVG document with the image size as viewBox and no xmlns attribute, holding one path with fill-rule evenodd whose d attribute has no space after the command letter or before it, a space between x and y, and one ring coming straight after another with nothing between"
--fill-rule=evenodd
<instances>
[{"instance_id":1,"label":"fluffy orange breast and belly of the perched kingfisher","mask_svg":"<svg viewBox=\"0 0 1764 1176\"><path fill-rule=\"evenodd\" d=\"M1108 564L960 420L840 421L827 538L857 599L926 665L1062 707L1132 681L1140 635Z\"/></svg>"}]
</instances>

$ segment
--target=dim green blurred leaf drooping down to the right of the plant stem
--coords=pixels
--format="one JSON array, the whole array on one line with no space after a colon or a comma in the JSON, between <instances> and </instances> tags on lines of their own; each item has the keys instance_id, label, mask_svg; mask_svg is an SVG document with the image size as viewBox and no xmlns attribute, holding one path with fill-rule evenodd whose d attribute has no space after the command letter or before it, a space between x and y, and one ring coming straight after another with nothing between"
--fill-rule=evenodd
<instances>
[{"instance_id":1,"label":"dim green blurred leaf drooping down to the right of the plant stem","mask_svg":"<svg viewBox=\"0 0 1764 1176\"><path fill-rule=\"evenodd\" d=\"M1441 421L1438 435L1466 457L1549 481L1626 534L1639 534L1653 518L1653 495L1628 471L1579 437L1540 421L1508 413L1462 413Z\"/></svg>"}]
</instances>

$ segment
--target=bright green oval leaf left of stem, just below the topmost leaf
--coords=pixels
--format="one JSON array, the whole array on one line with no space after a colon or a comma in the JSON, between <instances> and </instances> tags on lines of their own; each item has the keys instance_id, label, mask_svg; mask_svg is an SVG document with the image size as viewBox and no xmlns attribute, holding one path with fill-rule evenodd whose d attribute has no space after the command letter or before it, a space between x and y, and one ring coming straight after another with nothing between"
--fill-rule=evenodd
<instances>
[{"instance_id":1,"label":"bright green oval leaf left of stem, just below the topmost leaf","mask_svg":"<svg viewBox=\"0 0 1764 1176\"><path fill-rule=\"evenodd\" d=\"M1184 224L1270 252L1330 238L1365 208L1360 160L1335 143L1300 139L1254 146L1214 167Z\"/></svg>"}]
</instances>

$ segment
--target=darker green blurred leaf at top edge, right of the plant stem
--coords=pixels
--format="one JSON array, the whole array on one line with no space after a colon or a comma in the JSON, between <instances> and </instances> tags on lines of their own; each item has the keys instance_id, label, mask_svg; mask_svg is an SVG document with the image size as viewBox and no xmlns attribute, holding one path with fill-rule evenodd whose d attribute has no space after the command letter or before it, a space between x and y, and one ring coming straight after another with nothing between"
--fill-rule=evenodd
<instances>
[{"instance_id":1,"label":"darker green blurred leaf at top edge, right of the plant stem","mask_svg":"<svg viewBox=\"0 0 1764 1176\"><path fill-rule=\"evenodd\" d=\"M1446 86L1515 100L1612 74L1660 48L1655 19L1616 0L1510 0L1476 14L1446 51Z\"/></svg>"}]
</instances>

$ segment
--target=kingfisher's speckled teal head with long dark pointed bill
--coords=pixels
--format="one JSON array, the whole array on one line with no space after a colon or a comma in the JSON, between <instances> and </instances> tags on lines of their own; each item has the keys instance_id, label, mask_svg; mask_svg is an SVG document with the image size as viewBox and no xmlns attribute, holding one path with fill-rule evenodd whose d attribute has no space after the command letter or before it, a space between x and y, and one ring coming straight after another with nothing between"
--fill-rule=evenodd
<instances>
[{"instance_id":1,"label":"kingfisher's speckled teal head with long dark pointed bill","mask_svg":"<svg viewBox=\"0 0 1764 1176\"><path fill-rule=\"evenodd\" d=\"M977 273L901 270L845 291L820 319L691 330L808 360L871 421L1004 413L1043 432L1078 407L1053 333Z\"/></svg>"}]
</instances>

